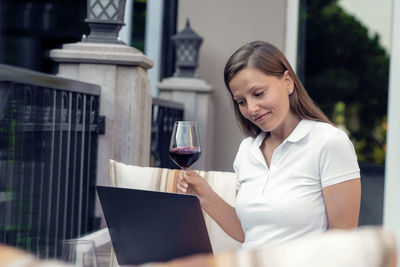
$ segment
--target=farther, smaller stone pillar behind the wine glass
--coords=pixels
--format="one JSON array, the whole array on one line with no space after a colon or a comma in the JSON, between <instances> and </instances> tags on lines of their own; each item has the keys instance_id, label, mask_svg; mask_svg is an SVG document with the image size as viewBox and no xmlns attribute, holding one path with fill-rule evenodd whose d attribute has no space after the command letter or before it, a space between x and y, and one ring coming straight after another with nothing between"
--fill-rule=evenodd
<instances>
[{"instance_id":1,"label":"farther, smaller stone pillar behind the wine glass","mask_svg":"<svg viewBox=\"0 0 400 267\"><path fill-rule=\"evenodd\" d=\"M166 78L157 87L161 98L183 103L185 120L198 122L202 154L191 169L210 170L214 140L212 87L195 77Z\"/></svg>"}]
</instances>

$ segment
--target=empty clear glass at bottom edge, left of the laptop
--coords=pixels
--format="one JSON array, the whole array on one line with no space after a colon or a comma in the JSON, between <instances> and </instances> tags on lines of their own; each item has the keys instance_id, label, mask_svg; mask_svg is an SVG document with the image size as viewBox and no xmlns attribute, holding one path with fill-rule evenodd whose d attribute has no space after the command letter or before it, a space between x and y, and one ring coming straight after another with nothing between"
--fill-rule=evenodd
<instances>
[{"instance_id":1,"label":"empty clear glass at bottom edge, left of the laptop","mask_svg":"<svg viewBox=\"0 0 400 267\"><path fill-rule=\"evenodd\" d=\"M97 257L92 240L70 239L63 242L61 260L76 267L97 267Z\"/></svg>"}]
</instances>

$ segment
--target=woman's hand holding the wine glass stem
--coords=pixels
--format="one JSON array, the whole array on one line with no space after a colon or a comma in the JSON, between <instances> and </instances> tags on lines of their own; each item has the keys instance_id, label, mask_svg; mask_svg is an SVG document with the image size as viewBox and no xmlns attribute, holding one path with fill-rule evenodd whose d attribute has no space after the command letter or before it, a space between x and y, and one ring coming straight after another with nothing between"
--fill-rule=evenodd
<instances>
[{"instance_id":1,"label":"woman's hand holding the wine glass stem","mask_svg":"<svg viewBox=\"0 0 400 267\"><path fill-rule=\"evenodd\" d=\"M176 185L178 193L193 194L200 199L200 204L209 200L214 191L210 185L198 173L192 170L180 171L178 174L178 183Z\"/></svg>"}]
</instances>

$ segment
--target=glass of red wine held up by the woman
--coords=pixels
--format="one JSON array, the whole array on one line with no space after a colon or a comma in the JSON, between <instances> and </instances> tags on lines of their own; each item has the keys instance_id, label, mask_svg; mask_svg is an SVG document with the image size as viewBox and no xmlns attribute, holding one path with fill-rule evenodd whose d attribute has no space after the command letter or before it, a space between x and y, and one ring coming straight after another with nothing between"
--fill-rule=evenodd
<instances>
[{"instance_id":1,"label":"glass of red wine held up by the woman","mask_svg":"<svg viewBox=\"0 0 400 267\"><path fill-rule=\"evenodd\" d=\"M195 121L176 121L169 145L169 156L181 169L186 170L201 155L199 131Z\"/></svg>"}]
</instances>

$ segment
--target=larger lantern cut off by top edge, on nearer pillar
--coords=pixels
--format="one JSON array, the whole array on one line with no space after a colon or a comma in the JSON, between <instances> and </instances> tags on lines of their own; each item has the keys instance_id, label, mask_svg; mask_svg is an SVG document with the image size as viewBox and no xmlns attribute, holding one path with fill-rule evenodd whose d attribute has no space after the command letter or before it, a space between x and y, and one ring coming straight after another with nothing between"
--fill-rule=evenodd
<instances>
[{"instance_id":1,"label":"larger lantern cut off by top edge, on nearer pillar","mask_svg":"<svg viewBox=\"0 0 400 267\"><path fill-rule=\"evenodd\" d=\"M88 37L83 42L123 43L118 38L124 23L126 0L87 0L87 18L90 27Z\"/></svg>"}]
</instances>

